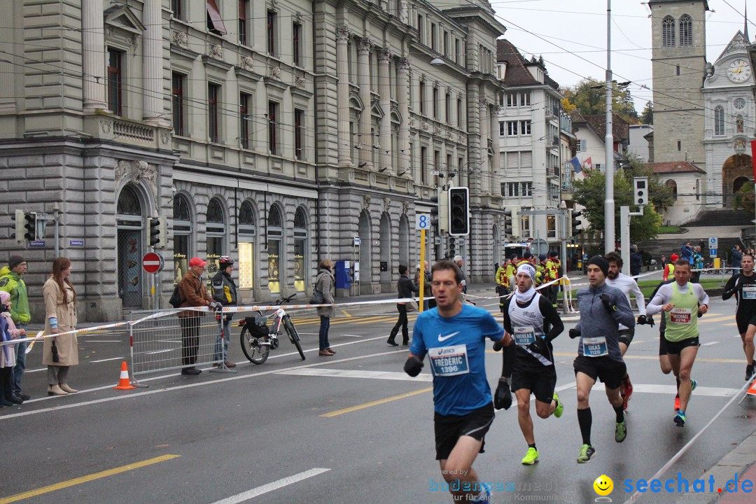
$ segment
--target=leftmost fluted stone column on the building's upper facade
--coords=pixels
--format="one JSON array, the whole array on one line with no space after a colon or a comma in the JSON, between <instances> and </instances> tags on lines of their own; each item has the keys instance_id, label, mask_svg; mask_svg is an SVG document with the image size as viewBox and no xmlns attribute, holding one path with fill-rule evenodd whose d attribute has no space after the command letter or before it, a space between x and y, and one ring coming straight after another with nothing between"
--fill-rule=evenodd
<instances>
[{"instance_id":1,"label":"leftmost fluted stone column on the building's upper facade","mask_svg":"<svg viewBox=\"0 0 756 504\"><path fill-rule=\"evenodd\" d=\"M82 73L84 111L107 110L105 26L102 0L82 0Z\"/></svg>"}]
</instances>

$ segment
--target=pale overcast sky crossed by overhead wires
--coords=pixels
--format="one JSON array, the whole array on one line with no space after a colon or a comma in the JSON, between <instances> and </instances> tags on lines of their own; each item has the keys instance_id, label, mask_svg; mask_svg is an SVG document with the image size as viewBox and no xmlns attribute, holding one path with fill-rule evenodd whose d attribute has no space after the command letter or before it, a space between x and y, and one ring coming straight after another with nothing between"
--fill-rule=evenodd
<instances>
[{"instance_id":1,"label":"pale overcast sky crossed by overhead wires","mask_svg":"<svg viewBox=\"0 0 756 504\"><path fill-rule=\"evenodd\" d=\"M744 0L709 0L706 18L707 60L714 63L739 29ZM730 5L727 5L727 4ZM748 18L756 20L756 0L748 2ZM507 26L505 37L525 57L543 54L549 75L560 85L584 77L603 80L606 71L606 0L501 0L491 2L497 19ZM652 100L651 20L649 8L637 0L612 0L612 71L615 80L630 80L638 113ZM530 33L532 32L532 33ZM756 26L748 23L751 41ZM545 39L545 40L544 40ZM574 53L574 54L571 54ZM584 59L581 59L584 58Z\"/></svg>"}]
</instances>

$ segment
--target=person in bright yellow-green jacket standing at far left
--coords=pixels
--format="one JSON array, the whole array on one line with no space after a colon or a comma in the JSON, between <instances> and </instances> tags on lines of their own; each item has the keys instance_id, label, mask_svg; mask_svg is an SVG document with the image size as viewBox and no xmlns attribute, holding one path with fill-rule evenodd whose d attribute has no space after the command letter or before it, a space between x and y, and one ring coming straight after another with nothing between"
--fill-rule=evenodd
<instances>
[{"instance_id":1,"label":"person in bright yellow-green jacket standing at far left","mask_svg":"<svg viewBox=\"0 0 756 504\"><path fill-rule=\"evenodd\" d=\"M29 320L29 292L26 283L21 277L26 274L26 260L20 255L11 255L8 258L8 267L0 270L0 290L11 295L11 318L17 329L27 329ZM16 345L16 365L13 368L12 392L21 400L29 400L32 397L24 394L21 390L23 370L26 369L26 342Z\"/></svg>"}]
</instances>

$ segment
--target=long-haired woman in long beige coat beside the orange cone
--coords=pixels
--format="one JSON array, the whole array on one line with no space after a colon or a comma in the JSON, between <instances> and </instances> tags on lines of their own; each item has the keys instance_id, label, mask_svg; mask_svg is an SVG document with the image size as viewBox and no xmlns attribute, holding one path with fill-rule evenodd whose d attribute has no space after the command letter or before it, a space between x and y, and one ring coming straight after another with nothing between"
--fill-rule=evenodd
<instances>
[{"instance_id":1,"label":"long-haired woman in long beige coat beside the orange cone","mask_svg":"<svg viewBox=\"0 0 756 504\"><path fill-rule=\"evenodd\" d=\"M56 258L52 274L42 287L45 299L45 333L57 335L76 329L76 290L68 277L71 260ZM68 386L68 369L79 364L76 334L45 338L42 364L48 366L48 395L66 395L77 390Z\"/></svg>"}]
</instances>

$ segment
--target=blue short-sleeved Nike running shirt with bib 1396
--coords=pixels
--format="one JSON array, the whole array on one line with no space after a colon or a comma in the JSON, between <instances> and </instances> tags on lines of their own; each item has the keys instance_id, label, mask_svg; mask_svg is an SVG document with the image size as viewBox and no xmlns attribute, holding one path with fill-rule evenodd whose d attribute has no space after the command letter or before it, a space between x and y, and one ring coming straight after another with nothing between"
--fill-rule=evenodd
<instances>
[{"instance_id":1,"label":"blue short-sleeved Nike running shirt with bib 1396","mask_svg":"<svg viewBox=\"0 0 756 504\"><path fill-rule=\"evenodd\" d=\"M438 309L417 316L410 352L429 357L433 373L433 404L441 415L465 415L490 404L485 376L485 339L497 342L504 329L482 308L463 305L451 318Z\"/></svg>"}]
</instances>

